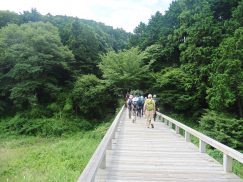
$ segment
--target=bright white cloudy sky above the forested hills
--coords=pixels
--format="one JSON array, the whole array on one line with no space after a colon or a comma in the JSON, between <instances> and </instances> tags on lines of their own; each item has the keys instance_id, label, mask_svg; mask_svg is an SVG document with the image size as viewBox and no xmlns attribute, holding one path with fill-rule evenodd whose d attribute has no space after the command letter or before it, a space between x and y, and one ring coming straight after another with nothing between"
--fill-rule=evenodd
<instances>
[{"instance_id":1,"label":"bright white cloudy sky above the forested hills","mask_svg":"<svg viewBox=\"0 0 243 182\"><path fill-rule=\"evenodd\" d=\"M0 10L16 13L36 8L42 15L67 15L95 20L133 32L157 11L164 14L172 0L0 0Z\"/></svg>"}]
</instances>

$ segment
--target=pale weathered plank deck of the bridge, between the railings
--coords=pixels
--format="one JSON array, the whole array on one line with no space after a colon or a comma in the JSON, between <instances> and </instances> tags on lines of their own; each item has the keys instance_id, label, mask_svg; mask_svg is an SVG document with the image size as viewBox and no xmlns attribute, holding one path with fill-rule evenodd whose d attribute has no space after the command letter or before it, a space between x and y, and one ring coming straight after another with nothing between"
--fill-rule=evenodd
<instances>
[{"instance_id":1,"label":"pale weathered plank deck of the bridge, between the railings","mask_svg":"<svg viewBox=\"0 0 243 182\"><path fill-rule=\"evenodd\" d=\"M112 150L106 152L106 168L99 169L96 181L243 181L162 122L154 125L147 128L144 117L132 123L125 111Z\"/></svg>"}]
</instances>

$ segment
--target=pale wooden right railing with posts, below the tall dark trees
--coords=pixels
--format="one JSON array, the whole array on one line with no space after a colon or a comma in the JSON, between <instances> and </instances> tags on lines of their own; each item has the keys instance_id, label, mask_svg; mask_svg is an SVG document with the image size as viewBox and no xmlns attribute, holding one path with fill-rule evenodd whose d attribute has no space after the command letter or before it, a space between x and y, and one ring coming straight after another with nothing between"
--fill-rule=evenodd
<instances>
[{"instance_id":1,"label":"pale wooden right railing with posts, below the tall dark trees","mask_svg":"<svg viewBox=\"0 0 243 182\"><path fill-rule=\"evenodd\" d=\"M206 145L210 145L224 154L223 157L223 168L225 172L232 172L232 162L233 159L243 163L243 154L220 143L216 140L164 115L157 112L157 115L161 121L163 121L166 125L168 125L171 129L173 128L172 125L175 125L175 132L179 134L180 129L185 131L185 140L189 142L190 136L193 135L199 139L199 152L205 153L206 152Z\"/></svg>"}]
</instances>

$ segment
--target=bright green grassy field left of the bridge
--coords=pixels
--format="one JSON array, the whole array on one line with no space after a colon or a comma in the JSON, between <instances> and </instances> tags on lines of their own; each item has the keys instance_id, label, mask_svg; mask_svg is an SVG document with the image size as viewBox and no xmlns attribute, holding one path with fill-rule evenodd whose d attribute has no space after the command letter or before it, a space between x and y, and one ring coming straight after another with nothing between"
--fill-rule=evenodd
<instances>
[{"instance_id":1,"label":"bright green grassy field left of the bridge","mask_svg":"<svg viewBox=\"0 0 243 182\"><path fill-rule=\"evenodd\" d=\"M62 137L0 136L0 181L76 181L110 123Z\"/></svg>"}]
</instances>

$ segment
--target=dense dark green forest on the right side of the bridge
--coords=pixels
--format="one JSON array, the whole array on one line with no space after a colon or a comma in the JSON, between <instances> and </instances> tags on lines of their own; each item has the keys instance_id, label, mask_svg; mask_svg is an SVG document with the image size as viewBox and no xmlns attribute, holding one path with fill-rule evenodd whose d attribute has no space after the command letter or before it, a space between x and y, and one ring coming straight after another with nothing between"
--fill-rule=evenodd
<instances>
[{"instance_id":1,"label":"dense dark green forest on the right side of the bridge","mask_svg":"<svg viewBox=\"0 0 243 182\"><path fill-rule=\"evenodd\" d=\"M178 0L140 23L130 39L153 60L147 89L159 95L162 112L181 113L241 151L242 17L242 0Z\"/></svg>"}]
</instances>

